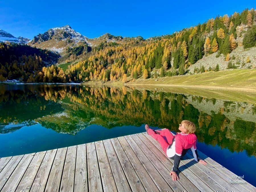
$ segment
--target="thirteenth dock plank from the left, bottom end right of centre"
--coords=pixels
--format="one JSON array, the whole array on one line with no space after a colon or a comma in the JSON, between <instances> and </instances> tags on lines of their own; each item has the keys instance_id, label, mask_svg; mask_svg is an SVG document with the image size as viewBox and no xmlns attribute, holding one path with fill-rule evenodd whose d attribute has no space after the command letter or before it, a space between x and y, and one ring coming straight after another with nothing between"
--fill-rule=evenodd
<instances>
[{"instance_id":1,"label":"thirteenth dock plank from the left, bottom end right of centre","mask_svg":"<svg viewBox=\"0 0 256 192\"><path fill-rule=\"evenodd\" d=\"M138 174L138 177L140 178L140 181L142 182L146 191L159 191L154 181L149 176L148 172L143 167L142 163L140 162L136 154L133 152L132 148L130 147L126 139L124 137L118 137L118 141L122 145L124 152L129 158L134 170Z\"/></svg>"}]
</instances>

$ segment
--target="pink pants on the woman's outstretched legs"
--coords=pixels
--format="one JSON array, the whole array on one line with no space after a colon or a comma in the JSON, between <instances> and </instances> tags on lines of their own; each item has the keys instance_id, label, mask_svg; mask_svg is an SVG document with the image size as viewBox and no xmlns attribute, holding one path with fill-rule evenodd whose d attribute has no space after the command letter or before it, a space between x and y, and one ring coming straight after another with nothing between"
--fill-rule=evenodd
<instances>
[{"instance_id":1,"label":"pink pants on the woman's outstretched legs","mask_svg":"<svg viewBox=\"0 0 256 192\"><path fill-rule=\"evenodd\" d=\"M148 134L160 143L163 151L165 152L165 155L167 156L166 152L169 145L173 142L174 135L168 129L159 130L157 132L159 132L160 135L155 133L155 131L153 131L152 129L148 129ZM167 141L164 137L167 139Z\"/></svg>"}]
</instances>

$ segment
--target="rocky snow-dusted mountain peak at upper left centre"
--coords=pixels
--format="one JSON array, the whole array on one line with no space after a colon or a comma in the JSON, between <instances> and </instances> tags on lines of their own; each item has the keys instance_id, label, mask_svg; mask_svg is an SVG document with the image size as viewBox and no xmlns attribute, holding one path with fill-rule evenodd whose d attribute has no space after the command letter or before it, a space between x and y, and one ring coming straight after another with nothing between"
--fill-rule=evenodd
<instances>
[{"instance_id":1,"label":"rocky snow-dusted mountain peak at upper left centre","mask_svg":"<svg viewBox=\"0 0 256 192\"><path fill-rule=\"evenodd\" d=\"M43 34L34 36L29 45L62 53L66 47L77 45L78 42L87 42L87 39L87 37L66 25L51 28Z\"/></svg>"}]
</instances>

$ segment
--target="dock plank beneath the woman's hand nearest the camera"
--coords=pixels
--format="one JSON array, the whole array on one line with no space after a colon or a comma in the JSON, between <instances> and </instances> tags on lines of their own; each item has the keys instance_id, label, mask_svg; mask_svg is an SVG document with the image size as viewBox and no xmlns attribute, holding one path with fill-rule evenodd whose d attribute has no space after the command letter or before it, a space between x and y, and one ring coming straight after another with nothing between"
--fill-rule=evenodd
<instances>
[{"instance_id":1,"label":"dock plank beneath the woman's hand nearest the camera","mask_svg":"<svg viewBox=\"0 0 256 192\"><path fill-rule=\"evenodd\" d=\"M162 162L162 164L168 169L169 172L171 172L171 168L173 167L173 163L171 163L171 161L168 160L168 158L162 154L153 143L151 143L151 141L149 141L143 134L139 133L137 134L137 136L143 141L143 143L146 145L146 147L148 147L151 152L153 152L153 154L155 154L155 156ZM134 137L133 137L134 138ZM135 140L135 139L134 139ZM136 142L138 143L138 142ZM139 145L141 147L141 145ZM181 185L183 187L185 187L185 189L187 191L200 191L183 173L178 172L179 174L179 183L181 183ZM175 181L173 181L175 182Z\"/></svg>"}]
</instances>

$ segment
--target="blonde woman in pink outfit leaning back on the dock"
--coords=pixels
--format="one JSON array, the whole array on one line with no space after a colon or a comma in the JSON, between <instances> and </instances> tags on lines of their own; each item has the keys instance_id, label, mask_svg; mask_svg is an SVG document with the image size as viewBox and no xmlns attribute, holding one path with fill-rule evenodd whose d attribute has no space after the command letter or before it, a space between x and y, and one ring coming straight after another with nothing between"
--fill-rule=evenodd
<instances>
[{"instance_id":1,"label":"blonde woman in pink outfit leaning back on the dock","mask_svg":"<svg viewBox=\"0 0 256 192\"><path fill-rule=\"evenodd\" d=\"M196 162L202 163L206 165L207 163L204 160L199 160L198 154L196 151L196 135L194 132L196 131L196 126L194 123L188 120L181 121L179 126L180 133L177 135L171 133L168 129L154 131L150 129L148 124L145 125L145 129L151 137L157 140L166 156L174 159L173 168L171 170L170 175L172 175L173 181L179 180L177 175L179 163L181 157L183 157L189 149L192 150L194 160ZM166 137L167 141L163 138Z\"/></svg>"}]
</instances>

